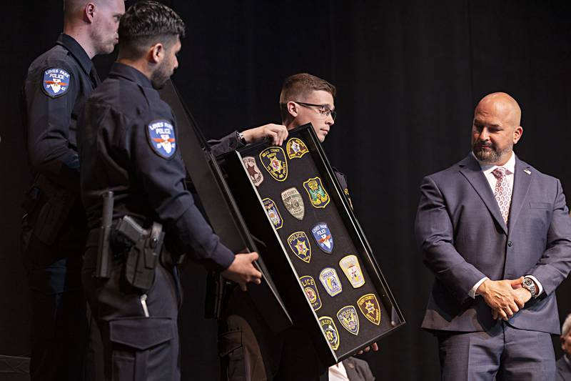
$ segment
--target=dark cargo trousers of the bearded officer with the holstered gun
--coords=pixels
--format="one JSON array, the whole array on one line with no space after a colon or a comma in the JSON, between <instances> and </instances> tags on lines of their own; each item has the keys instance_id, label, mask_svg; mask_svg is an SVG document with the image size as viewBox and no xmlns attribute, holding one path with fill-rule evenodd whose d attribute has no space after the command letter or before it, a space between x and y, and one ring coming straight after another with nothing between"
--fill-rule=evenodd
<instances>
[{"instance_id":1,"label":"dark cargo trousers of the bearded officer with the holstered gun","mask_svg":"<svg viewBox=\"0 0 571 381\"><path fill-rule=\"evenodd\" d=\"M146 294L124 277L124 261L109 279L94 278L97 247L88 247L81 280L103 341L105 379L178 381L177 315L181 288L176 268L158 264Z\"/></svg>"}]
</instances>

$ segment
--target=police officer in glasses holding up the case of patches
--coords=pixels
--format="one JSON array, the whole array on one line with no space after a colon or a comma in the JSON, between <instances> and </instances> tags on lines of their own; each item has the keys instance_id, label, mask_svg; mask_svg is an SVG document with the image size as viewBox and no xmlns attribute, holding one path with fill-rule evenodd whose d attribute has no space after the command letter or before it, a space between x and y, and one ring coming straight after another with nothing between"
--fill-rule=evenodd
<instances>
[{"instance_id":1,"label":"police officer in glasses holding up the case of patches","mask_svg":"<svg viewBox=\"0 0 571 381\"><path fill-rule=\"evenodd\" d=\"M283 125L265 126L233 132L211 142L215 155L231 152L266 137L283 144L288 130L311 123L323 143L335 121L335 86L311 74L295 74L285 79L280 96ZM347 179L334 169L349 204ZM218 323L221 380L318 380L327 368L320 363L310 336L295 325L273 335L248 295L227 286L228 296ZM378 350L376 344L373 350ZM368 351L369 349L365 349Z\"/></svg>"}]
</instances>

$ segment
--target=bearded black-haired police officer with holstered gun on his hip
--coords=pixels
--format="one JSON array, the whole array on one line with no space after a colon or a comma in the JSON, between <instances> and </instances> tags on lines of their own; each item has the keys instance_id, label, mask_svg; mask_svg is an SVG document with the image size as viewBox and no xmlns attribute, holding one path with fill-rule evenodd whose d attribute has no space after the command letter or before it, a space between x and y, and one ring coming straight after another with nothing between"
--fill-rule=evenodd
<instances>
[{"instance_id":1,"label":"bearded black-haired police officer with holstered gun on his hip","mask_svg":"<svg viewBox=\"0 0 571 381\"><path fill-rule=\"evenodd\" d=\"M106 380L179 379L176 264L183 254L243 290L261 278L252 264L258 254L235 255L225 247L185 188L176 120L156 91L178 66L184 31L178 14L163 4L131 6L119 26L118 61L80 119L81 198L92 229L82 282L101 330ZM107 241L100 227L107 226L102 196L109 191L114 207ZM106 244L112 255L107 275L98 271Z\"/></svg>"}]
</instances>

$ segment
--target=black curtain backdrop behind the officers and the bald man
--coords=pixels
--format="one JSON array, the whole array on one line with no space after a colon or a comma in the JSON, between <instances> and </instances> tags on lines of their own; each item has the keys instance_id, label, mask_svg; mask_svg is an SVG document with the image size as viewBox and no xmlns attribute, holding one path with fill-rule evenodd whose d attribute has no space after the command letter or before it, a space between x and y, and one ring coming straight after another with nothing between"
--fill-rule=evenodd
<instances>
[{"instance_id":1,"label":"black curtain backdrop behind the officers and the bald man","mask_svg":"<svg viewBox=\"0 0 571 381\"><path fill-rule=\"evenodd\" d=\"M338 119L324 147L348 177L355 212L408 322L363 357L378 380L438 380L435 339L420 330L433 282L413 236L420 180L468 154L475 104L506 91L522 107L518 156L560 178L571 197L570 4L164 2L188 24L173 80L208 138L279 122L279 91L290 74L306 71L338 87ZM27 355L31 316L19 231L30 177L18 94L31 61L61 30L61 2L13 1L4 15L0 354ZM113 56L95 61L104 77ZM184 274L183 380L218 375L216 322L202 319L204 277L194 264ZM571 312L569 279L557 297L563 318Z\"/></svg>"}]
</instances>

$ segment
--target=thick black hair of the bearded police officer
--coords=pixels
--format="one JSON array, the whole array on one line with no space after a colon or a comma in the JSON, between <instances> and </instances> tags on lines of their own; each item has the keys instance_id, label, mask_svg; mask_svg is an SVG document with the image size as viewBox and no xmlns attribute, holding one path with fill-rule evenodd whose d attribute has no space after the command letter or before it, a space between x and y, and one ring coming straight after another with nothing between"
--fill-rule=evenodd
<instances>
[{"instance_id":1,"label":"thick black hair of the bearded police officer","mask_svg":"<svg viewBox=\"0 0 571 381\"><path fill-rule=\"evenodd\" d=\"M166 47L176 37L184 37L186 25L175 11L157 1L138 1L121 16L119 23L119 51L121 56L138 59L157 43Z\"/></svg>"}]
</instances>

